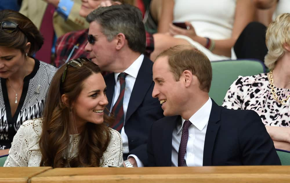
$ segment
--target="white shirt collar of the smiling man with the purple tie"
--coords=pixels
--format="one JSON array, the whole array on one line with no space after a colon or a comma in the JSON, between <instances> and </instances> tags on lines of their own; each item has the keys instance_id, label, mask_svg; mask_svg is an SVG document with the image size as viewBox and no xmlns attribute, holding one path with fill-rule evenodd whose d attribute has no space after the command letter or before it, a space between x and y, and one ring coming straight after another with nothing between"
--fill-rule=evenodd
<instances>
[{"instance_id":1,"label":"white shirt collar of the smiling man with the purple tie","mask_svg":"<svg viewBox=\"0 0 290 183\"><path fill-rule=\"evenodd\" d=\"M212 106L211 98L190 118L189 121L200 131L205 127L205 125L209 122L209 115L211 114L211 106ZM177 134L182 130L182 126L185 119L181 117L181 125L177 125Z\"/></svg>"}]
</instances>

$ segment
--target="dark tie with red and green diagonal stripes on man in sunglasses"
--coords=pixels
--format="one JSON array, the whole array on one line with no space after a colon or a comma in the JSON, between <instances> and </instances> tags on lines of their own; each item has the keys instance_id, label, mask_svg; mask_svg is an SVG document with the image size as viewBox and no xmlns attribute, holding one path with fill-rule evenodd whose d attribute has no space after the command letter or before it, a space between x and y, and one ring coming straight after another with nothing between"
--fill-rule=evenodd
<instances>
[{"instance_id":1,"label":"dark tie with red and green diagonal stripes on man in sunglasses","mask_svg":"<svg viewBox=\"0 0 290 183\"><path fill-rule=\"evenodd\" d=\"M114 104L111 113L115 117L115 122L112 124L111 128L117 130L118 132L121 133L121 130L124 126L124 109L123 109L123 99L124 99L124 93L125 93L125 87L126 87L126 82L125 78L128 74L127 73L120 73L118 75L119 81L120 81L120 94L119 97Z\"/></svg>"}]
</instances>

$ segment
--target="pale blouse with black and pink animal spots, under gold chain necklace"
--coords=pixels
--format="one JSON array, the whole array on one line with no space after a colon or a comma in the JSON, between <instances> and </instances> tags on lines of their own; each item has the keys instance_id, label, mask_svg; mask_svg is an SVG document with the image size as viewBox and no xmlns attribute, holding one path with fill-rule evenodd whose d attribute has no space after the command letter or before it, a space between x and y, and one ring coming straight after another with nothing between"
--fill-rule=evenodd
<instances>
[{"instance_id":1,"label":"pale blouse with black and pink animal spots, under gold chain necklace","mask_svg":"<svg viewBox=\"0 0 290 183\"><path fill-rule=\"evenodd\" d=\"M279 100L290 95L290 89L275 89ZM239 76L226 92L222 106L228 109L253 110L260 115L264 125L290 125L290 100L282 105L273 98L267 73Z\"/></svg>"}]
</instances>

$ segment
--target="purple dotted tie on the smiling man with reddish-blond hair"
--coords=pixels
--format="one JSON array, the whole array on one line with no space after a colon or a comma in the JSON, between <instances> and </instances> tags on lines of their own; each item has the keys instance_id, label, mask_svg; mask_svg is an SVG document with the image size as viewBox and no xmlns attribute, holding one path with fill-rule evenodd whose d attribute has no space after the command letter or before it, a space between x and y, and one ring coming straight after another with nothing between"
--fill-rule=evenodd
<instances>
[{"instance_id":1,"label":"purple dotted tie on the smiling man with reddish-blond hair","mask_svg":"<svg viewBox=\"0 0 290 183\"><path fill-rule=\"evenodd\" d=\"M182 127L182 135L178 150L178 166L183 166L184 155L186 153L186 146L188 141L188 128L192 123L188 120L185 120Z\"/></svg>"}]
</instances>

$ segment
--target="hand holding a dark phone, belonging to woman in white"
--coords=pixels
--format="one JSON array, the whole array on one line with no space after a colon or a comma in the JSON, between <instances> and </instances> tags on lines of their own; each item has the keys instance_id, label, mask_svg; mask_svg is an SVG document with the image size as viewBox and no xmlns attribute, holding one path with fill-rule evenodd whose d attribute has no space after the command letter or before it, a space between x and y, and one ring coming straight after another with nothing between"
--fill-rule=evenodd
<instances>
[{"instance_id":1,"label":"hand holding a dark phone, belonging to woman in white","mask_svg":"<svg viewBox=\"0 0 290 183\"><path fill-rule=\"evenodd\" d=\"M174 36L174 35L186 35L186 36L190 37L191 39L195 40L195 37L197 35L195 33L194 27L188 21L185 22L185 25L187 26L187 29L177 27L177 26L173 25L172 23L169 24L169 34L171 36Z\"/></svg>"}]
</instances>

